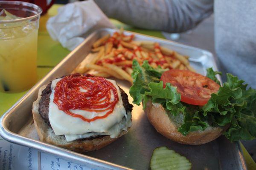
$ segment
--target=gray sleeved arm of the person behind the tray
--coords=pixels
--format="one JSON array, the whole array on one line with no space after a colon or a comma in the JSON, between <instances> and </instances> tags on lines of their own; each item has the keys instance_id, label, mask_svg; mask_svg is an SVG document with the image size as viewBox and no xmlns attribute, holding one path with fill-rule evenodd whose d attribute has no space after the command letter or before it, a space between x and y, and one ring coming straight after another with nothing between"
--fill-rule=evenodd
<instances>
[{"instance_id":1,"label":"gray sleeved arm of the person behind the tray","mask_svg":"<svg viewBox=\"0 0 256 170\"><path fill-rule=\"evenodd\" d=\"M213 12L213 0L94 0L108 16L144 29L183 32Z\"/></svg>"}]
</instances>

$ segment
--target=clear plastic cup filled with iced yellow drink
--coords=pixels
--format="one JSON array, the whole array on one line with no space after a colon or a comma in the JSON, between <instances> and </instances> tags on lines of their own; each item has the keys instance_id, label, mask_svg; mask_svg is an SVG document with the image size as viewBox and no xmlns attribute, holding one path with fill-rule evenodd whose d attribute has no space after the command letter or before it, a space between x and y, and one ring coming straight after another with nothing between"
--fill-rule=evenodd
<instances>
[{"instance_id":1,"label":"clear plastic cup filled with iced yellow drink","mask_svg":"<svg viewBox=\"0 0 256 170\"><path fill-rule=\"evenodd\" d=\"M37 41L42 9L0 1L0 92L21 92L37 81Z\"/></svg>"}]
</instances>

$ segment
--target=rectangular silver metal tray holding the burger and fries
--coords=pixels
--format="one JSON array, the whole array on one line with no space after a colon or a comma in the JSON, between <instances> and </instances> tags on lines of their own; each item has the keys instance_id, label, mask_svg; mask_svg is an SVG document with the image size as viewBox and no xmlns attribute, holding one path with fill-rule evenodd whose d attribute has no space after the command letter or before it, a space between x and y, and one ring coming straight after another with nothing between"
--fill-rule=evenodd
<instances>
[{"instance_id":1,"label":"rectangular silver metal tray holding the burger and fries","mask_svg":"<svg viewBox=\"0 0 256 170\"><path fill-rule=\"evenodd\" d=\"M1 118L0 135L7 141L33 147L42 152L73 161L94 169L148 169L152 151L156 147L167 146L186 156L192 162L192 170L247 170L244 157L238 142L230 143L224 136L202 145L183 145L163 137L149 123L141 106L134 106L132 112L133 125L129 132L108 146L88 152L76 153L60 147L46 144L38 140L32 119L32 103L36 100L38 89L49 81L70 74L87 55L97 39L114 29L99 29L89 35L81 45L64 58L48 75L24 95ZM125 32L130 35L131 32ZM150 40L160 45L190 56L191 65L199 73L205 75L208 67L217 70L213 55L202 49L185 46L169 40L135 34L136 40ZM128 94L130 84L117 81ZM132 98L129 96L129 101Z\"/></svg>"}]
</instances>

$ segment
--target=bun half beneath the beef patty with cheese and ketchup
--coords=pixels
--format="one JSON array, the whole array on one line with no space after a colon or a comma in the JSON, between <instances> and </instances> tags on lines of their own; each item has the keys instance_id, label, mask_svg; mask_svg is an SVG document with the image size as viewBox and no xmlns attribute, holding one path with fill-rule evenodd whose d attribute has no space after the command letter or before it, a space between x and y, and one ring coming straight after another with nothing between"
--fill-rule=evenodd
<instances>
[{"instance_id":1,"label":"bun half beneath the beef patty with cheese and ketchup","mask_svg":"<svg viewBox=\"0 0 256 170\"><path fill-rule=\"evenodd\" d=\"M37 130L38 136L40 141L46 142L48 144L53 144L58 147L63 147L68 150L73 150L76 152L84 153L92 150L99 150L102 147L110 144L111 142L115 141L120 136L127 133L123 130L118 137L110 138L109 135L102 136L99 138L93 139L84 139L84 140L75 140L75 141L66 141L64 135L55 135L52 128L49 127L47 123L45 123L42 116L39 114L39 101L41 99L42 90L45 89L46 86L42 86L38 92L38 99L33 103L33 118L35 123L35 128Z\"/></svg>"}]
</instances>

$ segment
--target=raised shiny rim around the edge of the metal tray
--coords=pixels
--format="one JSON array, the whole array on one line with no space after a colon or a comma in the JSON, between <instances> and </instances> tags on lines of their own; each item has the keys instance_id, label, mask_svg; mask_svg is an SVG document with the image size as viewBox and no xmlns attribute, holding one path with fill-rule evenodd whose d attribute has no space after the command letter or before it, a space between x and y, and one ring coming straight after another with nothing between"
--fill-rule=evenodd
<instances>
[{"instance_id":1,"label":"raised shiny rim around the edge of the metal tray","mask_svg":"<svg viewBox=\"0 0 256 170\"><path fill-rule=\"evenodd\" d=\"M45 81L49 77L51 77L51 75L59 67L62 66L63 63L65 63L78 49L80 49L82 46L84 46L84 44L87 43L87 41L89 41L93 36L95 36L95 34L98 34L99 32L102 32L102 31L113 32L113 31L116 31L116 30L118 30L118 29L110 29L110 28L96 29L89 36L87 36L85 38L85 40L79 46L77 46L65 58L63 58L60 63L58 63L47 75L44 76L44 78L42 78L40 81L38 81L37 84L35 84L25 95L23 95L10 109L8 109L1 116L1 118L0 118L0 135L5 140L7 140L9 142L16 143L16 144L26 146L26 147L32 147L32 148L35 148L35 149L37 149L41 152L44 152L44 153L50 153L52 155L64 157L64 158L71 159L71 160L73 160L74 156L76 156L76 161L81 161L85 164L90 164L91 166L104 167L106 169L115 168L115 169L120 169L120 170L132 170L129 167L124 167L122 165L118 165L118 164L114 164L114 163L111 163L111 162L108 162L108 161L104 161L104 160L101 160L99 158L94 158L94 157L87 156L87 155L84 155L84 154L81 154L81 153L77 153L77 152L74 152L74 151L71 151L71 150L67 150L67 149L64 149L64 148L61 148L61 147L57 147L57 146L54 146L54 145L51 145L51 144L47 144L47 143L44 143L44 142L41 142L41 141L37 141L37 140L31 139L31 138L26 138L24 136L21 136L17 133L14 133L14 132L10 131L6 127L6 125L4 124L4 121L8 118L9 115L12 114L12 112L15 110L15 108L19 107L19 105L22 104L22 102L24 100L26 100L26 98L28 96L32 95L32 93L34 93L35 90L39 89L40 86L42 86L45 83ZM188 45L185 45L185 44L182 44L182 43L177 43L177 42L172 41L172 40L166 40L166 39L159 38L159 37L154 37L154 36L151 36L151 35L144 35L144 34L137 33L137 32L131 32L131 31L126 31L125 30L124 33L125 34L126 33L135 34L135 35L140 35L140 36L145 36L145 37L151 37L153 39L161 40L161 41L167 42L167 43L171 43L175 46L179 46L179 47L182 47L182 48L186 47L186 48L193 49L193 50L199 50L203 54L208 55L209 57L211 57L214 60L213 65L215 66L216 70L218 70L218 64L217 64L216 58L213 56L213 54L211 52L209 52L207 50L200 49L200 48L193 47L193 46L188 46ZM220 76L218 76L218 79L221 81ZM28 143L31 143L31 144L28 145ZM239 158L240 158L240 160L239 160L240 164L239 165L240 165L242 170L247 170L247 166L246 166L246 163L245 163L245 160L244 160L244 155L243 155L243 152L241 150L240 143L238 141L236 141L235 144L236 144L236 147L238 148L238 151L239 151ZM58 152L56 152L56 151L58 151ZM65 155L65 156L63 156L63 155Z\"/></svg>"}]
</instances>

